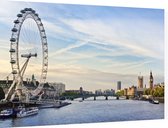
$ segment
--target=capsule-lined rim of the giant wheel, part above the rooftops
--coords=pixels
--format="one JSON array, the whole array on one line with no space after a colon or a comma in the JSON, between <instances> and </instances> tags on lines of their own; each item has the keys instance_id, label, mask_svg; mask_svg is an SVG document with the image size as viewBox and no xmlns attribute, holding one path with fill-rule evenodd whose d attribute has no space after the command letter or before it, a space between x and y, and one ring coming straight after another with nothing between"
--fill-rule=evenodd
<instances>
[{"instance_id":1,"label":"capsule-lined rim of the giant wheel, part above the rooftops","mask_svg":"<svg viewBox=\"0 0 168 128\"><path fill-rule=\"evenodd\" d=\"M20 75L20 62L19 62L19 39L20 39L20 31L22 29L22 25L25 20L31 18L35 21L39 35L40 35L40 42L42 45L42 69L41 69L41 76L40 76L40 83L44 83L47 77L48 71L48 44L47 44L47 36L45 33L45 29L41 18L36 13L35 10L32 8L25 8L17 14L17 19L14 20L14 26L11 29L12 35L10 38L10 63L12 67L12 74L15 77Z\"/></svg>"}]
</instances>

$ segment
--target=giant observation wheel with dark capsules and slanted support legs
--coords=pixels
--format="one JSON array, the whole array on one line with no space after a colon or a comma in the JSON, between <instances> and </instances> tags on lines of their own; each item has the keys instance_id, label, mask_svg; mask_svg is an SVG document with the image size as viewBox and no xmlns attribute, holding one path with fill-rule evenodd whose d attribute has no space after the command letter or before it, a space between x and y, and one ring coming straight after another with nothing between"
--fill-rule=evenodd
<instances>
[{"instance_id":1,"label":"giant observation wheel with dark capsules and slanted support legs","mask_svg":"<svg viewBox=\"0 0 168 128\"><path fill-rule=\"evenodd\" d=\"M39 81L39 86L34 91L38 93L45 83L48 70L47 37L36 11L32 8L21 10L11 31L9 52L14 80L6 99L11 97L12 90L21 89L24 79L30 78L32 74Z\"/></svg>"}]
</instances>

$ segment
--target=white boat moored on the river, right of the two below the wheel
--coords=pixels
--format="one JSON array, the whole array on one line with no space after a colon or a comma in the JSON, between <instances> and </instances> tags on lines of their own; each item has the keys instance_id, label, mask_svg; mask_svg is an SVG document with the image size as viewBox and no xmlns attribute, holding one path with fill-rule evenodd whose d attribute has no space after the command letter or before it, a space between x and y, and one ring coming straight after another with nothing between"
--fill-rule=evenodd
<instances>
[{"instance_id":1,"label":"white boat moored on the river, right of the two below the wheel","mask_svg":"<svg viewBox=\"0 0 168 128\"><path fill-rule=\"evenodd\" d=\"M16 116L18 118L21 117L27 117L27 116L31 116L31 115L36 115L38 114L38 107L30 107L30 108L22 108L17 114Z\"/></svg>"}]
</instances>

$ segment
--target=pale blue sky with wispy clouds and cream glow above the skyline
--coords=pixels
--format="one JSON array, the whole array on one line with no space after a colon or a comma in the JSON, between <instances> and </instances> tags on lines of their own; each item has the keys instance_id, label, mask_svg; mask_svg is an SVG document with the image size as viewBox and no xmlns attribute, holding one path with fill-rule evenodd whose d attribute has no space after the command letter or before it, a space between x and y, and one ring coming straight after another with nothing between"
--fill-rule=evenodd
<instances>
[{"instance_id":1,"label":"pale blue sky with wispy clouds and cream glow above the skyline","mask_svg":"<svg viewBox=\"0 0 168 128\"><path fill-rule=\"evenodd\" d=\"M0 79L11 72L11 29L25 7L36 10L47 34L47 82L94 91L116 89L117 81L137 86L142 75L148 87L150 71L155 84L164 81L164 10L30 2L0 4ZM26 29L35 31L25 22ZM41 59L33 59L26 75L38 80Z\"/></svg>"}]
</instances>

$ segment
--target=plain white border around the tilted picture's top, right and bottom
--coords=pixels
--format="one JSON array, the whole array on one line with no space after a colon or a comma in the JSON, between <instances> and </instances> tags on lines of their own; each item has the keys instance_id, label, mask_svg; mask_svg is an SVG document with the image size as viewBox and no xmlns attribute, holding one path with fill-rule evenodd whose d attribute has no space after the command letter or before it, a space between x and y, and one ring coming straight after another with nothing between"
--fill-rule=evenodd
<instances>
[{"instance_id":1,"label":"plain white border around the tilted picture's top, right and bottom","mask_svg":"<svg viewBox=\"0 0 168 128\"><path fill-rule=\"evenodd\" d=\"M11 1L27 1L27 2L47 2L47 3L65 3L65 4L82 4L82 5L105 5L119 7L135 7L135 8L157 8L165 11L165 119L150 121L125 121L112 123L95 123L95 124L75 124L75 125L52 125L50 128L164 128L168 121L168 0L11 0ZM37 126L36 126L37 127ZM44 128L46 126L38 126ZM30 128L30 127L28 127Z\"/></svg>"}]
</instances>

